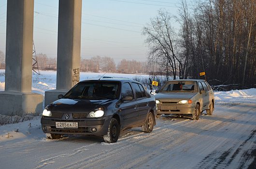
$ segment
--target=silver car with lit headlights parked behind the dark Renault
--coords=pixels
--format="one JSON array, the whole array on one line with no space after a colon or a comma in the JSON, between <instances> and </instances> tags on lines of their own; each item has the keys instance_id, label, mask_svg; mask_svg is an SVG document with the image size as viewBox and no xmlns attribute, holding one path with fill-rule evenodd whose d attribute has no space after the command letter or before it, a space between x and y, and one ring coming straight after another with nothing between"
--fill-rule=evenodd
<instances>
[{"instance_id":1,"label":"silver car with lit headlights parked behind the dark Renault","mask_svg":"<svg viewBox=\"0 0 256 169\"><path fill-rule=\"evenodd\" d=\"M212 115L214 93L210 85L202 79L183 79L167 81L156 91L156 117L161 114L192 115L198 120L202 111Z\"/></svg>"}]
</instances>

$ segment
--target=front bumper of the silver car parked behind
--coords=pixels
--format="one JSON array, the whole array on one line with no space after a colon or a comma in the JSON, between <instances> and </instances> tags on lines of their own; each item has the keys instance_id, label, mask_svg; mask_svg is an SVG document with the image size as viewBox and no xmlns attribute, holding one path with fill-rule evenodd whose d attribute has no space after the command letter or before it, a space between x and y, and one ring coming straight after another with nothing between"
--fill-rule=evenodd
<instances>
[{"instance_id":1,"label":"front bumper of the silver car parked behind","mask_svg":"<svg viewBox=\"0 0 256 169\"><path fill-rule=\"evenodd\" d=\"M157 104L156 114L192 114L196 104Z\"/></svg>"}]
</instances>

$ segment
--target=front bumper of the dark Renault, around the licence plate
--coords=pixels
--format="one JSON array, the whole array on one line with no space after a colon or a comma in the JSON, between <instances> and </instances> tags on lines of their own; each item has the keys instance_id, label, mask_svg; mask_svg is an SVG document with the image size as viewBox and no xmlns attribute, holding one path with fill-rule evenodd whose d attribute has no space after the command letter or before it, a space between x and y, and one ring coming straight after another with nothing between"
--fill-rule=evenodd
<instances>
[{"instance_id":1,"label":"front bumper of the dark Renault, around the licence plate","mask_svg":"<svg viewBox=\"0 0 256 169\"><path fill-rule=\"evenodd\" d=\"M106 135L108 132L109 123L111 116L93 118L93 119L72 119L64 120L53 117L41 118L41 127L44 133L51 134L75 134L75 135ZM56 121L61 122L78 122L77 129L57 129L55 126ZM96 128L95 132L92 131L92 128Z\"/></svg>"}]
</instances>

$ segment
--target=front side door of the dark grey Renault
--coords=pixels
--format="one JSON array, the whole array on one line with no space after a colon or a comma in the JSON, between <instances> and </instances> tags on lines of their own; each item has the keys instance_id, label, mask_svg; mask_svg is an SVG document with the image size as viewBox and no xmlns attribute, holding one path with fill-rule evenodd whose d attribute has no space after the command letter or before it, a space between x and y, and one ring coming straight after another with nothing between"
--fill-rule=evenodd
<instances>
[{"instance_id":1,"label":"front side door of the dark grey Renault","mask_svg":"<svg viewBox=\"0 0 256 169\"><path fill-rule=\"evenodd\" d=\"M122 101L120 104L121 127L128 127L136 123L138 119L138 104L134 97L132 88L128 82L122 84L121 98L131 96L132 100Z\"/></svg>"}]
</instances>

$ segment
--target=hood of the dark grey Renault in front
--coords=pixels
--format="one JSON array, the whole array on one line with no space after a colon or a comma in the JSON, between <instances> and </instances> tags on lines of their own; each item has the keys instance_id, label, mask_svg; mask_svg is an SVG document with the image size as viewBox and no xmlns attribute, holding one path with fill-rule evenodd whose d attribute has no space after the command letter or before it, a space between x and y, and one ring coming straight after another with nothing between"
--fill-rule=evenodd
<instances>
[{"instance_id":1,"label":"hood of the dark grey Renault in front","mask_svg":"<svg viewBox=\"0 0 256 169\"><path fill-rule=\"evenodd\" d=\"M47 107L56 113L89 113L94 109L111 104L113 100L84 100L84 99L59 99Z\"/></svg>"}]
</instances>

